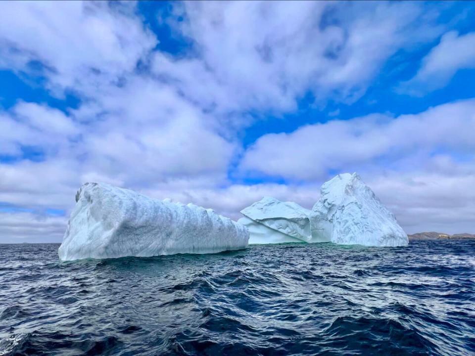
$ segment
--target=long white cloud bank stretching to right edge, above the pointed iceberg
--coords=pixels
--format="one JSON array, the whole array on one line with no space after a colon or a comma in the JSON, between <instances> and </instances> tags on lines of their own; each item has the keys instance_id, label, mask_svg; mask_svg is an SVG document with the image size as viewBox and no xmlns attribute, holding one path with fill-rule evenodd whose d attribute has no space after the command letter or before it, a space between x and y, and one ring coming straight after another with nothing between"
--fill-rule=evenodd
<instances>
[{"instance_id":1,"label":"long white cloud bank stretching to right edge, above the pointed iceberg","mask_svg":"<svg viewBox=\"0 0 475 356\"><path fill-rule=\"evenodd\" d=\"M297 180L327 178L329 171L418 162L438 151L473 157L475 100L449 103L397 118L370 115L308 125L290 134L261 136L245 153L243 173ZM420 163L419 163L420 164ZM404 168L404 167L402 167Z\"/></svg>"}]
</instances>

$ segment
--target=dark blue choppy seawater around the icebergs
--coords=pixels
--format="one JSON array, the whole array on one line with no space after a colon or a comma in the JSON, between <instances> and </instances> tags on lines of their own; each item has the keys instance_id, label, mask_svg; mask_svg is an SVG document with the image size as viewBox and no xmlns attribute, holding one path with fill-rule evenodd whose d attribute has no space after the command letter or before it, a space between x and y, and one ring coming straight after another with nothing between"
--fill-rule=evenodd
<instances>
[{"instance_id":1,"label":"dark blue choppy seawater around the icebergs","mask_svg":"<svg viewBox=\"0 0 475 356\"><path fill-rule=\"evenodd\" d=\"M475 355L475 241L59 262L0 245L0 355Z\"/></svg>"}]
</instances>

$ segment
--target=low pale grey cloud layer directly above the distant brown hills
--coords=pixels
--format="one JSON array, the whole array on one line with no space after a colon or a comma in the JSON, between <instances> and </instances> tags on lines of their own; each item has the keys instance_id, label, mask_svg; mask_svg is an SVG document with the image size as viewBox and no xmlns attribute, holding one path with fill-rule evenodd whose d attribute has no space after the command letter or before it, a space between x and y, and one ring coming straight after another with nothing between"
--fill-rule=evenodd
<instances>
[{"instance_id":1,"label":"low pale grey cloud layer directly above the distant brown hills","mask_svg":"<svg viewBox=\"0 0 475 356\"><path fill-rule=\"evenodd\" d=\"M471 232L475 230L475 192L467 187L475 184L474 162L463 171L391 172L368 176L367 183L407 233Z\"/></svg>"}]
</instances>

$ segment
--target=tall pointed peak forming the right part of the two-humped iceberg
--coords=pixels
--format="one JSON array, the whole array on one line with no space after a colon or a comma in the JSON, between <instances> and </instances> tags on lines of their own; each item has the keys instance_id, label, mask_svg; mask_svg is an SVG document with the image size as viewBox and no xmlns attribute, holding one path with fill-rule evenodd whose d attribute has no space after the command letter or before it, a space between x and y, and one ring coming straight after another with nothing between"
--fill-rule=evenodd
<instances>
[{"instance_id":1,"label":"tall pointed peak forming the right part of the two-humped iceberg","mask_svg":"<svg viewBox=\"0 0 475 356\"><path fill-rule=\"evenodd\" d=\"M408 237L375 193L356 174L340 174L322 185L312 226L343 245L407 246Z\"/></svg>"}]
</instances>

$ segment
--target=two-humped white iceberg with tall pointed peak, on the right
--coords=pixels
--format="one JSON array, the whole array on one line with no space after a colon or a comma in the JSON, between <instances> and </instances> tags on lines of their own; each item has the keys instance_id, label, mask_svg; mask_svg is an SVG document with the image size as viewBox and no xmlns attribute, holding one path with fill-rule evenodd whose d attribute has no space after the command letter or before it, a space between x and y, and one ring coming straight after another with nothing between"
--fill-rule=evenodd
<instances>
[{"instance_id":1,"label":"two-humped white iceberg with tall pointed peak, on the right","mask_svg":"<svg viewBox=\"0 0 475 356\"><path fill-rule=\"evenodd\" d=\"M307 210L296 203L264 198L241 211L249 243L325 242L343 245L407 246L394 215L355 174L322 185L320 200Z\"/></svg>"}]
</instances>

